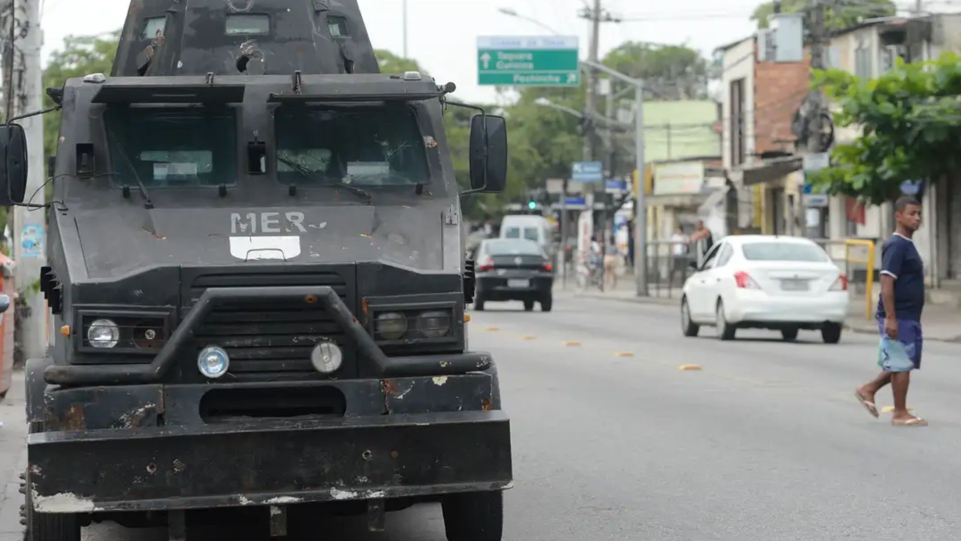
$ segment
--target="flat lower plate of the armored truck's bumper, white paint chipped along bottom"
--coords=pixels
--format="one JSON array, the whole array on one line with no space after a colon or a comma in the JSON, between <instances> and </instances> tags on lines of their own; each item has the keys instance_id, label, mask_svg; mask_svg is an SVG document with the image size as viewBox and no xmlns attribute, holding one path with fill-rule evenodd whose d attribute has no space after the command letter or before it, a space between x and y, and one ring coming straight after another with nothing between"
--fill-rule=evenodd
<instances>
[{"instance_id":1,"label":"flat lower plate of the armored truck's bumper, white paint chipped along bottom","mask_svg":"<svg viewBox=\"0 0 961 541\"><path fill-rule=\"evenodd\" d=\"M44 513L427 497L511 480L500 411L48 432L28 446Z\"/></svg>"}]
</instances>

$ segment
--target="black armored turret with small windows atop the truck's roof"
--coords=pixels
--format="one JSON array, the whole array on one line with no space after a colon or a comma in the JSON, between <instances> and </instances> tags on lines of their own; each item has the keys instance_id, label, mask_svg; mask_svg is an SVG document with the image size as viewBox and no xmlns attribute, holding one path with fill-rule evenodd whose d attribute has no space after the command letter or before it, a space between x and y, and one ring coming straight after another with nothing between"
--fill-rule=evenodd
<instances>
[{"instance_id":1,"label":"black armored turret with small windows atop the truck's roof","mask_svg":"<svg viewBox=\"0 0 961 541\"><path fill-rule=\"evenodd\" d=\"M131 0L112 76L379 73L357 0Z\"/></svg>"}]
</instances>

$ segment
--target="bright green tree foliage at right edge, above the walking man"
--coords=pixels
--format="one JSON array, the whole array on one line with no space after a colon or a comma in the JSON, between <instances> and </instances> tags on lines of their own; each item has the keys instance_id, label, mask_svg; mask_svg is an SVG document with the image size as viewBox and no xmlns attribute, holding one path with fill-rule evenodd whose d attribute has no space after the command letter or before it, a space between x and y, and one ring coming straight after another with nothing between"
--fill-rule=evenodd
<instances>
[{"instance_id":1,"label":"bright green tree foliage at right edge, above the walking man","mask_svg":"<svg viewBox=\"0 0 961 541\"><path fill-rule=\"evenodd\" d=\"M956 172L961 154L961 57L945 53L925 63L898 62L863 81L845 71L816 73L840 111L835 122L859 127L860 137L839 144L832 167L812 182L826 193L879 204L897 197L904 181Z\"/></svg>"}]
</instances>

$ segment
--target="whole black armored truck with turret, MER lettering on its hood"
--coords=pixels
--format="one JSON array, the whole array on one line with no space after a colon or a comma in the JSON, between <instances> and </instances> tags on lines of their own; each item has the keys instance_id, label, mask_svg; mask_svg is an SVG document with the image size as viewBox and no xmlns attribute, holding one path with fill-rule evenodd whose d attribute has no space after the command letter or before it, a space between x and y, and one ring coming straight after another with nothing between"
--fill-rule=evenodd
<instances>
[{"instance_id":1,"label":"whole black armored truck with turret, MER lettering on its hood","mask_svg":"<svg viewBox=\"0 0 961 541\"><path fill-rule=\"evenodd\" d=\"M454 90L380 73L357 0L132 0L111 74L47 90L60 332L27 366L28 539L379 530L418 502L450 541L501 539L509 422L467 347L459 197L503 190L506 129L470 108L459 191ZM2 132L0 193L29 204Z\"/></svg>"}]
</instances>

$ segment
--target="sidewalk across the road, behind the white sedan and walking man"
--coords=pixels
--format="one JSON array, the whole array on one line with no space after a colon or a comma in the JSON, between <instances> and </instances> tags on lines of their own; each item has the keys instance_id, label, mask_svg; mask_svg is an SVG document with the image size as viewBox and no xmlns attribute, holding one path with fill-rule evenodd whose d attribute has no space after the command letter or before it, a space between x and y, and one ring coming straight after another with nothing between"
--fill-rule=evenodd
<instances>
[{"instance_id":1,"label":"sidewalk across the road, behind the white sedan and walking man","mask_svg":"<svg viewBox=\"0 0 961 541\"><path fill-rule=\"evenodd\" d=\"M566 291L561 288L559 282L557 282L554 289L558 293L568 293L576 297L600 298L604 300L642 304L659 304L663 306L679 306L681 296L680 288L675 288L670 292L665 289L661 289L658 292L655 288L651 288L649 291L650 296L639 297L637 296L637 290L634 285L634 277L631 275L621 276L618 279L617 287L612 291L601 292L597 288L594 288L581 292L574 280L568 280ZM851 332L876 335L877 322L875 322L874 313L874 310L872 310L872 318L870 320L867 319L865 317L866 300L864 296L852 295L850 296L848 318L845 320L845 326ZM922 324L924 325L924 338L927 340L961 343L961 310L958 308L928 303L924 306Z\"/></svg>"}]
</instances>

